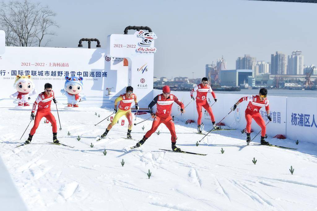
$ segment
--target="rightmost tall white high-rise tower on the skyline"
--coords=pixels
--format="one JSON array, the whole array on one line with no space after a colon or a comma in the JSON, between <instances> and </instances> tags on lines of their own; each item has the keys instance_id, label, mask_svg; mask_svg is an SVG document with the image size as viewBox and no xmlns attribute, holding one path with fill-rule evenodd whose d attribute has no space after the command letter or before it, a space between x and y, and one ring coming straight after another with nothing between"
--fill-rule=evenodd
<instances>
[{"instance_id":1,"label":"rightmost tall white high-rise tower on the skyline","mask_svg":"<svg viewBox=\"0 0 317 211\"><path fill-rule=\"evenodd\" d=\"M304 56L300 50L295 50L287 59L287 74L288 75L303 75L304 74Z\"/></svg>"}]
</instances>

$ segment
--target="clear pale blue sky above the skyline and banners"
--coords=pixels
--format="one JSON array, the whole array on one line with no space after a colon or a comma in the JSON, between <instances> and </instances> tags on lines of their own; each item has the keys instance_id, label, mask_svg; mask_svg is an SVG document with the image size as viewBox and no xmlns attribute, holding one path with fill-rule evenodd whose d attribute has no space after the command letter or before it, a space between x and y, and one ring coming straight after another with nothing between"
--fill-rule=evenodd
<instances>
[{"instance_id":1,"label":"clear pale blue sky above the skyline and banners","mask_svg":"<svg viewBox=\"0 0 317 211\"><path fill-rule=\"evenodd\" d=\"M38 2L30 0L31 2ZM317 64L317 4L245 0L48 1L57 13L57 36L49 47L77 48L81 38L123 34L126 26L149 26L158 36L154 76L203 77L205 64L222 55L235 69L244 54L270 62L271 54L301 50L304 63ZM133 33L132 31L129 33ZM83 43L87 48L87 42ZM93 43L92 46L95 46Z\"/></svg>"}]
</instances>

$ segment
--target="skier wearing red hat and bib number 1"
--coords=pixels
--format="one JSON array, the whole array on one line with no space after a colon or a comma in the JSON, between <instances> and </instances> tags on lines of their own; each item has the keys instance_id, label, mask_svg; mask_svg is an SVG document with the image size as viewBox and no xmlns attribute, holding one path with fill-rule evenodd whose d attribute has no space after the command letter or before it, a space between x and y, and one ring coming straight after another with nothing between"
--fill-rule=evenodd
<instances>
[{"instance_id":1,"label":"skier wearing red hat and bib number 1","mask_svg":"<svg viewBox=\"0 0 317 211\"><path fill-rule=\"evenodd\" d=\"M149 111L154 118L152 123L152 128L146 132L142 140L139 141L136 146L140 147L144 142L156 131L161 123L165 124L166 127L171 132L171 141L172 141L172 150L175 152L180 152L181 149L176 147L176 133L174 122L171 117L171 109L173 102L176 102L180 107L182 113L185 112L184 104L178 101L177 97L173 94L170 94L171 90L169 86L163 87L163 93L156 96L153 101L149 104ZM152 107L156 104L156 113L153 112Z\"/></svg>"}]
</instances>

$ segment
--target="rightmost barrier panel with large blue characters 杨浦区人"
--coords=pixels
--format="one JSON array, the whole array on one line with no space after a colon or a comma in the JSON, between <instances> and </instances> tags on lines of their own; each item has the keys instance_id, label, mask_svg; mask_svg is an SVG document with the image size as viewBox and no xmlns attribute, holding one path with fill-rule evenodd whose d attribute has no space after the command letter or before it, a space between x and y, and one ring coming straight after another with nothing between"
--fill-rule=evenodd
<instances>
[{"instance_id":1,"label":"rightmost barrier panel with large blue characters \u6768\u6d66\u533a\u4eba","mask_svg":"<svg viewBox=\"0 0 317 211\"><path fill-rule=\"evenodd\" d=\"M317 98L287 98L287 138L317 143L316 105Z\"/></svg>"}]
</instances>

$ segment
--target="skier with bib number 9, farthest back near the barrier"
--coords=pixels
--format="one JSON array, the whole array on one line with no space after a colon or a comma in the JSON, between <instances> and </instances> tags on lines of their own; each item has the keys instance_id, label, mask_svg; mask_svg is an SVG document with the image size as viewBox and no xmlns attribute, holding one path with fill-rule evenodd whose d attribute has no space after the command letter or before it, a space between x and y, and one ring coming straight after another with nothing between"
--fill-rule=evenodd
<instances>
[{"instance_id":1,"label":"skier with bib number 9, farthest back near the barrier","mask_svg":"<svg viewBox=\"0 0 317 211\"><path fill-rule=\"evenodd\" d=\"M196 96L196 109L198 113L198 119L197 119L197 131L198 133L202 133L200 125L201 125L201 117L203 115L202 107L206 109L208 114L210 115L210 119L212 122L212 126L215 129L220 129L220 127L216 126L215 116L212 113L211 107L209 106L207 102L207 93L210 92L212 97L214 98L215 102L217 102L216 95L214 91L212 91L211 87L208 85L208 79L206 77L202 78L201 84L198 84L194 87L194 89L191 90L191 100L195 100L193 93L197 92Z\"/></svg>"}]
</instances>

